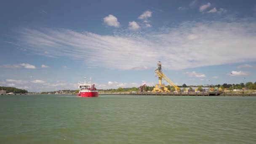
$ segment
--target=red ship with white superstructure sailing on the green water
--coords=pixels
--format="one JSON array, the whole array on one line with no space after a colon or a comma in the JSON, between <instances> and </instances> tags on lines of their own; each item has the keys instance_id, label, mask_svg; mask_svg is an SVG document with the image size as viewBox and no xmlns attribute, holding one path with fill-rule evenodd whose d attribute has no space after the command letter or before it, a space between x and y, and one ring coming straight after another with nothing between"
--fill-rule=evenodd
<instances>
[{"instance_id":1,"label":"red ship with white superstructure sailing on the green water","mask_svg":"<svg viewBox=\"0 0 256 144\"><path fill-rule=\"evenodd\" d=\"M95 88L95 85L91 85L91 78L90 78L90 83L86 83L86 78L85 78L85 83L84 84L79 84L79 93L77 93L77 96L80 97L98 97L99 92Z\"/></svg>"}]
</instances>

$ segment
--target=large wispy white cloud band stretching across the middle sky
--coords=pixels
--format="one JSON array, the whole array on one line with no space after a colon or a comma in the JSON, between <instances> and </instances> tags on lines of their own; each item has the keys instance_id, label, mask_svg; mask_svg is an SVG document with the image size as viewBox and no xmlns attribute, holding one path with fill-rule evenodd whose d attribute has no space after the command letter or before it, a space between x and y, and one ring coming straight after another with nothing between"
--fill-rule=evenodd
<instances>
[{"instance_id":1,"label":"large wispy white cloud band stretching across the middle sky","mask_svg":"<svg viewBox=\"0 0 256 144\"><path fill-rule=\"evenodd\" d=\"M166 69L187 69L256 61L255 29L256 21L249 19L186 21L174 28L132 35L130 31L98 35L69 29L23 28L17 43L42 55L48 51L56 57L91 59L85 63L93 62L93 67L150 69L161 59ZM189 36L192 34L194 37Z\"/></svg>"}]
</instances>

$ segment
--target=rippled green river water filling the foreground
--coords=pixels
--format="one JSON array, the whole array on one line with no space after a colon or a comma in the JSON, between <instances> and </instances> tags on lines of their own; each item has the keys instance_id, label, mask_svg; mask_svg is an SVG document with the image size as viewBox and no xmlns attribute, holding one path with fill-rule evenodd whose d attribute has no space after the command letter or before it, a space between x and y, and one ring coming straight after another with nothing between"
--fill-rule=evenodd
<instances>
[{"instance_id":1,"label":"rippled green river water filling the foreground","mask_svg":"<svg viewBox=\"0 0 256 144\"><path fill-rule=\"evenodd\" d=\"M256 97L0 96L0 144L255 144Z\"/></svg>"}]
</instances>

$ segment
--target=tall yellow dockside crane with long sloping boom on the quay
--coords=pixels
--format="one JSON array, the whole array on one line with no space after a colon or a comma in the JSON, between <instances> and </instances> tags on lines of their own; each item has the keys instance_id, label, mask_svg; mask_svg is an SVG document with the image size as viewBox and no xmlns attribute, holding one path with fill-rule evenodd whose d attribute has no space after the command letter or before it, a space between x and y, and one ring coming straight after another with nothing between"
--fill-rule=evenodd
<instances>
[{"instance_id":1,"label":"tall yellow dockside crane with long sloping boom on the quay","mask_svg":"<svg viewBox=\"0 0 256 144\"><path fill-rule=\"evenodd\" d=\"M162 71L162 64L161 64L161 61L158 61L157 63L157 69L155 69L155 76L158 77L158 84L155 85L155 88L153 89L152 92L170 92L168 90L168 88L165 87L164 84L162 84L162 78L167 82L169 83L170 85L172 85L176 91L180 91L180 88L175 85Z\"/></svg>"}]
</instances>

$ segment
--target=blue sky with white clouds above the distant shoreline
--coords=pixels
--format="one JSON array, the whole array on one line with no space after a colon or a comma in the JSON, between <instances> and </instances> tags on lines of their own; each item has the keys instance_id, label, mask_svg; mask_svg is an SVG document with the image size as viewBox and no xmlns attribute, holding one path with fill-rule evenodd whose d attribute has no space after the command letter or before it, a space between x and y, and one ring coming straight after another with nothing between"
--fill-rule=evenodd
<instances>
[{"instance_id":1,"label":"blue sky with white clouds above the distant shoreline","mask_svg":"<svg viewBox=\"0 0 256 144\"><path fill-rule=\"evenodd\" d=\"M255 0L3 0L0 18L0 86L154 86L158 61L176 85L256 82Z\"/></svg>"}]
</instances>

